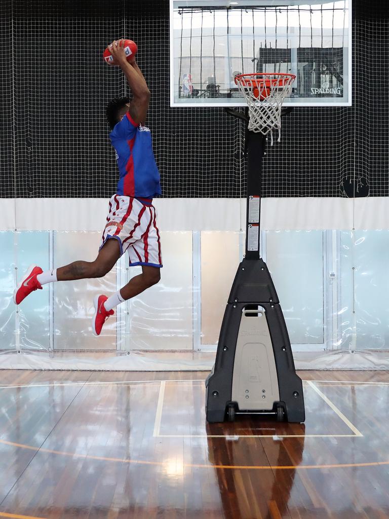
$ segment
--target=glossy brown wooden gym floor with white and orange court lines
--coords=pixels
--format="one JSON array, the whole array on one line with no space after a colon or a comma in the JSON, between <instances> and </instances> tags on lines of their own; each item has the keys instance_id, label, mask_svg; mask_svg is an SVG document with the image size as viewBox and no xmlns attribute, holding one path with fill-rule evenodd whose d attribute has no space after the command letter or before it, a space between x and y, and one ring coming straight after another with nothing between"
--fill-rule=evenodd
<instances>
[{"instance_id":1,"label":"glossy brown wooden gym floor with white and orange court lines","mask_svg":"<svg viewBox=\"0 0 389 519\"><path fill-rule=\"evenodd\" d=\"M389 372L300 372L304 425L206 425L205 375L0 371L0 517L389 517Z\"/></svg>"}]
</instances>

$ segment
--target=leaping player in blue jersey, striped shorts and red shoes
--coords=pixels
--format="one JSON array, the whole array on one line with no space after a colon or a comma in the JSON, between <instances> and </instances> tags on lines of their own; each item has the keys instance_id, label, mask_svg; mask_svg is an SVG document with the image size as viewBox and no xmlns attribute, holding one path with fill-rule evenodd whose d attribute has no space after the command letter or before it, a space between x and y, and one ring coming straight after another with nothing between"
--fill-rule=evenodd
<instances>
[{"instance_id":1,"label":"leaping player in blue jersey, striped shorts and red shoes","mask_svg":"<svg viewBox=\"0 0 389 519\"><path fill-rule=\"evenodd\" d=\"M130 266L141 265L142 274L109 297L103 294L95 297L92 321L95 335L100 335L105 320L114 314L117 305L158 283L162 267L156 210L152 206L152 198L161 193L160 177L150 130L145 126L150 91L135 57L128 62L123 47L124 40L118 40L110 46L110 51L113 64L119 65L127 78L133 100L130 103L129 98L115 99L107 106L107 119L112 128L109 136L116 149L120 179L116 194L109 201L99 254L93 262L76 261L46 272L32 265L13 294L19 305L46 283L101 278L127 251Z\"/></svg>"}]
</instances>

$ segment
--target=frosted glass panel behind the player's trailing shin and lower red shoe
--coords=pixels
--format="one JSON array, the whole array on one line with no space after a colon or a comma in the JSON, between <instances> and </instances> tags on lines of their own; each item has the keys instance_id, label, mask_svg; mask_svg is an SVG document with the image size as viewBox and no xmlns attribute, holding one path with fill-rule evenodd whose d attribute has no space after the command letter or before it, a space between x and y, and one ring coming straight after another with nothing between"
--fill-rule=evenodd
<instances>
[{"instance_id":1,"label":"frosted glass panel behind the player's trailing shin and lower red shoe","mask_svg":"<svg viewBox=\"0 0 389 519\"><path fill-rule=\"evenodd\" d=\"M60 267L76 260L93 261L101 233L55 232L53 264ZM54 349L116 349L116 313L104 324L99 337L92 333L95 295L116 292L116 268L104 278L62 281L53 284Z\"/></svg>"}]
</instances>

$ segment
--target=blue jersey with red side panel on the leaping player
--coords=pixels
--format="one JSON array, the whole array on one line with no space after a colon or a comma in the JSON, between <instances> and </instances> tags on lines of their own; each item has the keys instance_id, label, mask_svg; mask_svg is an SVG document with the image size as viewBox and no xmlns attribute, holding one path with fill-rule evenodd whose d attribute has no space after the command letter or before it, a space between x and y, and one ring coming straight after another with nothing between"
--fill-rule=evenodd
<instances>
[{"instance_id":1,"label":"blue jersey with red side panel on the leaping player","mask_svg":"<svg viewBox=\"0 0 389 519\"><path fill-rule=\"evenodd\" d=\"M160 176L152 151L151 133L127 114L109 134L120 172L117 194L153 198L161 194Z\"/></svg>"}]
</instances>

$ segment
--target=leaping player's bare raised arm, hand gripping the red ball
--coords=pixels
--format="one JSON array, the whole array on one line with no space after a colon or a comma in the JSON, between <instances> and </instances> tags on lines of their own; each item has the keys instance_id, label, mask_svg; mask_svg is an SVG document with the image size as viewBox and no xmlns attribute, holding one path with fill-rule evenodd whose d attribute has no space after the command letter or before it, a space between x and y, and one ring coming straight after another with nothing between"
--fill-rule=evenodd
<instances>
[{"instance_id":1,"label":"leaping player's bare raised arm, hand gripping the red ball","mask_svg":"<svg viewBox=\"0 0 389 519\"><path fill-rule=\"evenodd\" d=\"M133 57L132 61L127 61L127 56L124 52L124 40L121 39L113 42L111 52L114 57L114 63L120 66L134 96L129 108L131 118L136 124L144 122L150 102L150 90L146 80L135 62L135 57Z\"/></svg>"}]
</instances>

